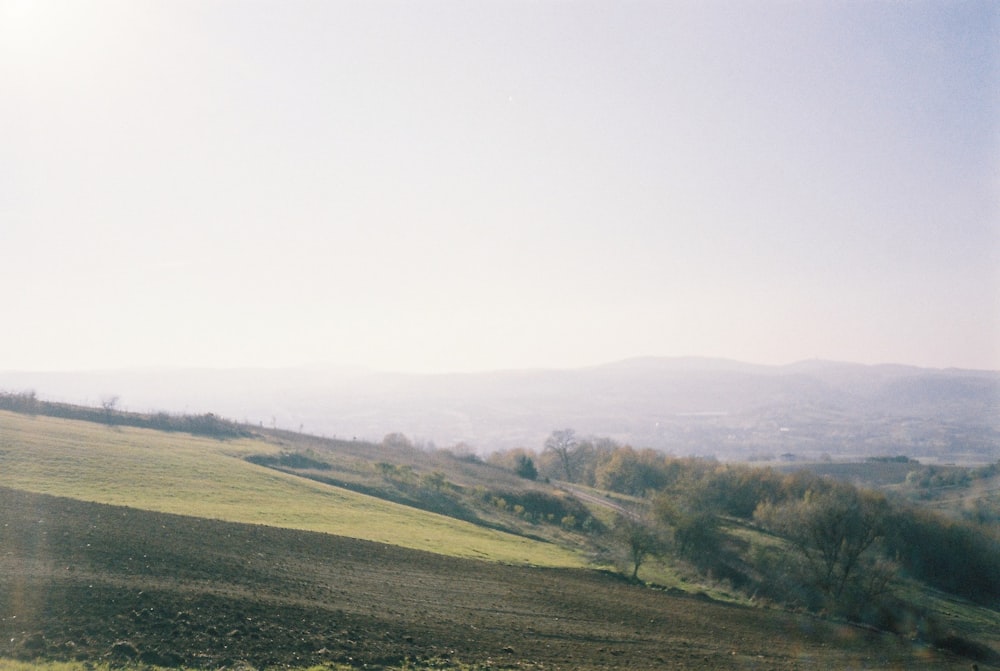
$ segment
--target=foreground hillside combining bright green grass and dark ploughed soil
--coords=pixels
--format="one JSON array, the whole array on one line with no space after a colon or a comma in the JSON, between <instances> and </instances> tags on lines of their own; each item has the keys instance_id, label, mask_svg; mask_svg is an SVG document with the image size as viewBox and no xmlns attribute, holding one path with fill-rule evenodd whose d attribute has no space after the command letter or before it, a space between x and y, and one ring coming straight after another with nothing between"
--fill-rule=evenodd
<instances>
[{"instance_id":1,"label":"foreground hillside combining bright green grass and dark ploughed soil","mask_svg":"<svg viewBox=\"0 0 1000 671\"><path fill-rule=\"evenodd\" d=\"M968 668L905 637L645 587L552 540L246 459L320 445L345 469L426 458L0 412L0 667ZM488 471L456 463L448 477Z\"/></svg>"}]
</instances>

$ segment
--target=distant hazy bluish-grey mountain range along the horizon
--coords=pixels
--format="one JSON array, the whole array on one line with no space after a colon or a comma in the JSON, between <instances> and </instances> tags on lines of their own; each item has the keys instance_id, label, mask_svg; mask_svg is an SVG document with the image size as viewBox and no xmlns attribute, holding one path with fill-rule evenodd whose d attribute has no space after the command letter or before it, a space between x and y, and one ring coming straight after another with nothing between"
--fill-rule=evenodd
<instances>
[{"instance_id":1,"label":"distant hazy bluish-grey mountain range along the horizon","mask_svg":"<svg viewBox=\"0 0 1000 671\"><path fill-rule=\"evenodd\" d=\"M361 368L0 373L0 390L133 411L479 452L541 449L554 429L677 455L1000 459L1000 372L803 361L639 358L569 370L415 375Z\"/></svg>"}]
</instances>

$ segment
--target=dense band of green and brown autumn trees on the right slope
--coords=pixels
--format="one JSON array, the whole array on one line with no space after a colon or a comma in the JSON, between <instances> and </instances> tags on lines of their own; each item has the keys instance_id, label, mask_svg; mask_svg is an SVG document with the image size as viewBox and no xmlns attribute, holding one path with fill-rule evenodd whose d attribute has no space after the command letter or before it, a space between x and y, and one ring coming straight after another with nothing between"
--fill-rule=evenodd
<instances>
[{"instance_id":1,"label":"dense band of green and brown autumn trees on the right slope","mask_svg":"<svg viewBox=\"0 0 1000 671\"><path fill-rule=\"evenodd\" d=\"M761 598L875 624L892 620L897 576L1000 603L1000 533L853 484L710 458L673 457L554 431L540 451L490 461L537 477L635 497L616 533L637 577L669 553ZM733 533L751 529L756 540Z\"/></svg>"}]
</instances>

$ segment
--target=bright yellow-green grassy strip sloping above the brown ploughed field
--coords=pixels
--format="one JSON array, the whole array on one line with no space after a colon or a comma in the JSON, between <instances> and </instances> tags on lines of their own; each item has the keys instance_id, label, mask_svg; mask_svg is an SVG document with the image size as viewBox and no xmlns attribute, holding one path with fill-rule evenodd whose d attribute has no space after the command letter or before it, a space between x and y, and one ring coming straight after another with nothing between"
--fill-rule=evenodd
<instances>
[{"instance_id":1,"label":"bright yellow-green grassy strip sloping above the brown ploughed field","mask_svg":"<svg viewBox=\"0 0 1000 671\"><path fill-rule=\"evenodd\" d=\"M568 550L254 466L257 439L0 412L0 484L146 510L321 531L459 557L582 566Z\"/></svg>"}]
</instances>

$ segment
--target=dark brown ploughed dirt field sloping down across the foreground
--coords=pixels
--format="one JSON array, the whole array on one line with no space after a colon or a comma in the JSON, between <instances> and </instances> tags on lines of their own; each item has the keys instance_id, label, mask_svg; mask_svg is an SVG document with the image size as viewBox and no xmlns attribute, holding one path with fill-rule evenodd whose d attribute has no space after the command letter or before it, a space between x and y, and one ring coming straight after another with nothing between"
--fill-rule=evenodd
<instances>
[{"instance_id":1,"label":"dark brown ploughed dirt field sloping down across the foreground","mask_svg":"<svg viewBox=\"0 0 1000 671\"><path fill-rule=\"evenodd\" d=\"M0 489L0 657L254 668L969 669L806 616L592 571ZM982 665L980 665L982 668Z\"/></svg>"}]
</instances>

